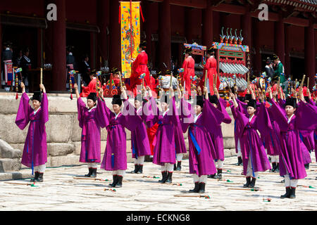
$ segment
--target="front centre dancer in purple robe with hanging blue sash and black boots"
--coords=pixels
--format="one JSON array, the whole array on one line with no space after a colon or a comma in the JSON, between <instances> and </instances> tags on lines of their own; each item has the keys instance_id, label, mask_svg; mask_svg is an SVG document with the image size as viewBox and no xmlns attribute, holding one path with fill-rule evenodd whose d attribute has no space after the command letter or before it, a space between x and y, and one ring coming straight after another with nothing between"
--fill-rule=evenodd
<instances>
[{"instance_id":1,"label":"front centre dancer in purple robe with hanging blue sash and black boots","mask_svg":"<svg viewBox=\"0 0 317 225\"><path fill-rule=\"evenodd\" d=\"M192 193L204 193L208 174L216 173L216 166L213 161L215 147L209 133L220 122L223 121L223 114L213 110L213 105L209 102L207 88L204 87L206 99L197 96L192 105L182 98L183 109L191 112L190 117L183 117L181 121L182 131L188 129L189 139L189 174L193 174L194 189ZM192 112L194 111L194 112ZM186 113L188 115L188 113Z\"/></svg>"}]
</instances>

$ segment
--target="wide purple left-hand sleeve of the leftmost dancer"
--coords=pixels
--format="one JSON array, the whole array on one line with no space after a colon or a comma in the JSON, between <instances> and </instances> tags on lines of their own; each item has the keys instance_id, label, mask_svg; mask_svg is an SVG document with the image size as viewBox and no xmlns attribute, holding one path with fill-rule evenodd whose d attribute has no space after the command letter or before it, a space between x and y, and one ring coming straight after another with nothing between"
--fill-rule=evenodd
<instances>
[{"instance_id":1,"label":"wide purple left-hand sleeve of the leftmost dancer","mask_svg":"<svg viewBox=\"0 0 317 225\"><path fill-rule=\"evenodd\" d=\"M32 112L32 108L29 104L30 98L26 93L23 93L20 100L20 105L18 108L18 113L15 118L15 124L20 129L25 129L30 121L29 115Z\"/></svg>"}]
</instances>

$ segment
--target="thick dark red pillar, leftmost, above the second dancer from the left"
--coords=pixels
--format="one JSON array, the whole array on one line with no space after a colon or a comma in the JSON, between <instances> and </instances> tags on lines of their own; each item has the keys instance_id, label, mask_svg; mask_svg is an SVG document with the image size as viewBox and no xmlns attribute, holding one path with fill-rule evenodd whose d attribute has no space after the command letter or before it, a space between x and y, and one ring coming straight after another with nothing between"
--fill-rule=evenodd
<instances>
[{"instance_id":1,"label":"thick dark red pillar, leftmost, above the second dancer from the left","mask_svg":"<svg viewBox=\"0 0 317 225\"><path fill-rule=\"evenodd\" d=\"M52 91L66 91L66 4L55 0L57 20L53 21Z\"/></svg>"}]
</instances>

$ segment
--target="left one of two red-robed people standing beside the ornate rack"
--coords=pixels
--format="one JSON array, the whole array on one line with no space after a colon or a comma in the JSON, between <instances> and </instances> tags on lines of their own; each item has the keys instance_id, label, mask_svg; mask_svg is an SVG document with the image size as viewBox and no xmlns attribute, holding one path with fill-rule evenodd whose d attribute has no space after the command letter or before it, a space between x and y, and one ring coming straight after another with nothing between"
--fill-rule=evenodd
<instances>
[{"instance_id":1,"label":"left one of two red-robed people standing beside the ornate rack","mask_svg":"<svg viewBox=\"0 0 317 225\"><path fill-rule=\"evenodd\" d=\"M192 95L191 92L191 84L192 81L190 77L194 77L195 75L195 60L192 58L192 48L185 49L185 60L184 63L182 63L182 68L184 69L184 72L182 72L182 81L184 82L185 91L187 91L187 94L189 96ZM188 98L187 95L185 95L185 98Z\"/></svg>"}]
</instances>

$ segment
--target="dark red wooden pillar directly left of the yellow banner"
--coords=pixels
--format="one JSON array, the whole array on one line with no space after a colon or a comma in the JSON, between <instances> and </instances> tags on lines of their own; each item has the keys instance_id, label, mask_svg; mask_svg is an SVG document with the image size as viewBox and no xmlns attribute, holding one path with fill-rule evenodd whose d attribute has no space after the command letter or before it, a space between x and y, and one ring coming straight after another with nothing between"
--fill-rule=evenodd
<instances>
[{"instance_id":1,"label":"dark red wooden pillar directly left of the yellow banner","mask_svg":"<svg viewBox=\"0 0 317 225\"><path fill-rule=\"evenodd\" d=\"M118 0L110 1L110 53L109 68L118 68L121 71L121 36L119 23L119 2Z\"/></svg>"}]
</instances>

